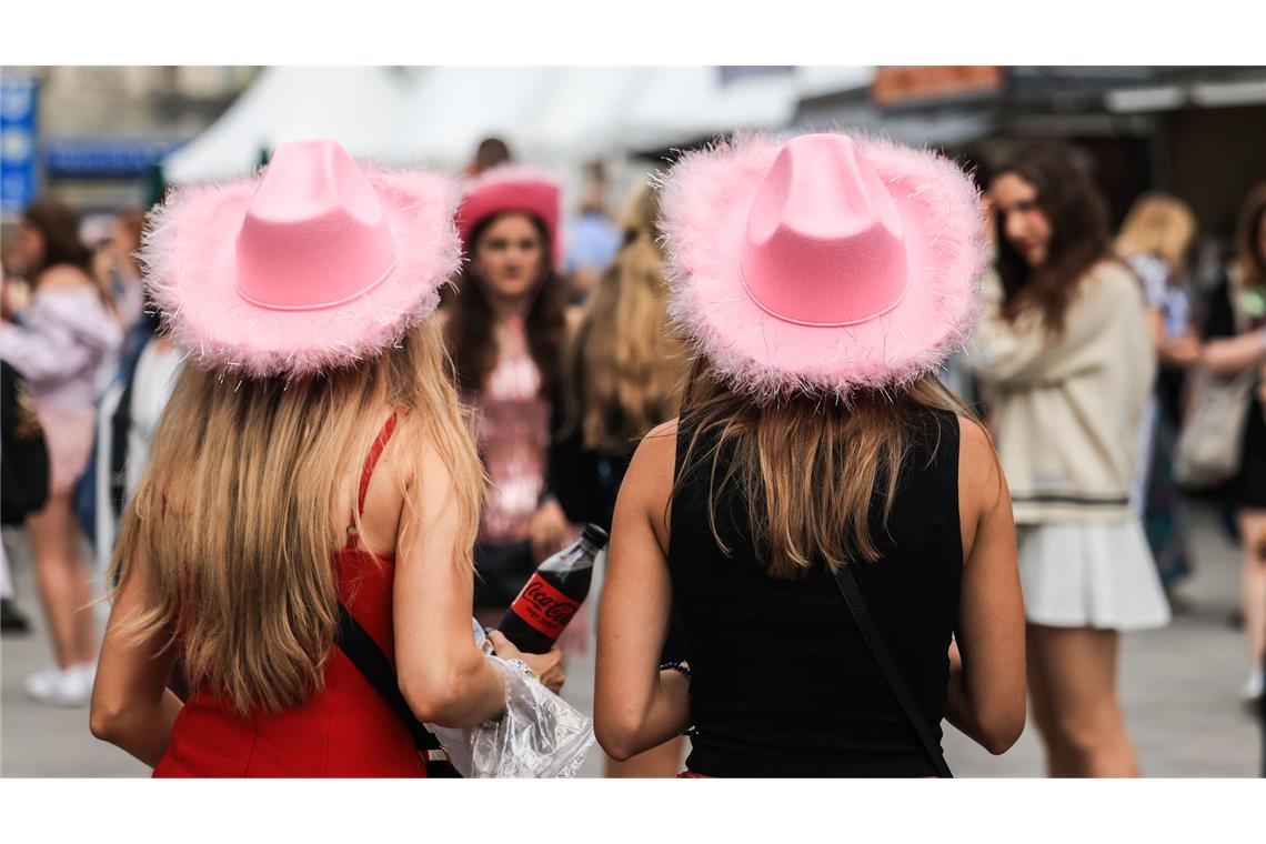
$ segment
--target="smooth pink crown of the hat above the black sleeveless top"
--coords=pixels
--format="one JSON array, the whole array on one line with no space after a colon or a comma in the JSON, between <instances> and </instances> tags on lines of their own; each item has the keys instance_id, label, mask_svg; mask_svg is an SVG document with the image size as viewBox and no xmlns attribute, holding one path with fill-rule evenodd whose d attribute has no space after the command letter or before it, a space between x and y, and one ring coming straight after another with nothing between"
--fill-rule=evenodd
<instances>
[{"instance_id":1,"label":"smooth pink crown of the hat above the black sleeveless top","mask_svg":"<svg viewBox=\"0 0 1266 844\"><path fill-rule=\"evenodd\" d=\"M901 215L847 135L787 140L752 201L739 270L779 319L848 325L900 302L909 275Z\"/></svg>"}]
</instances>

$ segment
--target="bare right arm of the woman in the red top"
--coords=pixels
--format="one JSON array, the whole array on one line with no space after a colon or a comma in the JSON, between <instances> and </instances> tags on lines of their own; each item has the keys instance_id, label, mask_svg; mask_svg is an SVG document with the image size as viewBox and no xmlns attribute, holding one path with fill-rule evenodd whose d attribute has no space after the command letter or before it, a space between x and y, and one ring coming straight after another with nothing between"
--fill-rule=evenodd
<instances>
[{"instance_id":1,"label":"bare right arm of the woman in the red top","mask_svg":"<svg viewBox=\"0 0 1266 844\"><path fill-rule=\"evenodd\" d=\"M452 476L433 444L424 449L396 539L396 674L419 720L475 726L505 711L505 686L471 631L475 581L458 563Z\"/></svg>"}]
</instances>

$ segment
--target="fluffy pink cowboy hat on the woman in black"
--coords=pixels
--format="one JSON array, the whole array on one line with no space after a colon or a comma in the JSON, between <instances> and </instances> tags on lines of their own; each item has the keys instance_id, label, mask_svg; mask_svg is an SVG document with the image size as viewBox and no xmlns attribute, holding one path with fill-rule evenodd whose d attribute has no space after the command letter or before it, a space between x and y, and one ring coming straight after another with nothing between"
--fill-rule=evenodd
<instances>
[{"instance_id":1,"label":"fluffy pink cowboy hat on the woman in black","mask_svg":"<svg viewBox=\"0 0 1266 844\"><path fill-rule=\"evenodd\" d=\"M936 153L749 135L687 153L662 189L671 314L741 392L909 383L975 325L979 195Z\"/></svg>"}]
</instances>

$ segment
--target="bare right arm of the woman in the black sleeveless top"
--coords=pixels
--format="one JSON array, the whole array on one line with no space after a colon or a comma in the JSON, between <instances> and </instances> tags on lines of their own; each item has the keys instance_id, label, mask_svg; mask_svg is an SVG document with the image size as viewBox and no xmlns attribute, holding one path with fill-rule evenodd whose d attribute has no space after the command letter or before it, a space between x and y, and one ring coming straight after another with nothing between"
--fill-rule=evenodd
<instances>
[{"instance_id":1,"label":"bare right arm of the woman in the black sleeveless top","mask_svg":"<svg viewBox=\"0 0 1266 844\"><path fill-rule=\"evenodd\" d=\"M946 716L990 753L1024 730L1024 606L1010 493L984 429L961 420L962 596ZM957 655L953 653L957 652Z\"/></svg>"}]
</instances>

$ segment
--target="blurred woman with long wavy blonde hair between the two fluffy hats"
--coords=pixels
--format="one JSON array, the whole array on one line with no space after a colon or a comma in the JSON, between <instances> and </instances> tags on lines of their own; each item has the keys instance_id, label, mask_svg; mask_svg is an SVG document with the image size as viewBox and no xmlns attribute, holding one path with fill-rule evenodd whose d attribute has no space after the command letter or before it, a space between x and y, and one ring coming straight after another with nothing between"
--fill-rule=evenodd
<instances>
[{"instance_id":1,"label":"blurred woman with long wavy blonde hair between the two fluffy hats","mask_svg":"<svg viewBox=\"0 0 1266 844\"><path fill-rule=\"evenodd\" d=\"M551 449L549 487L567 518L610 531L615 497L637 443L677 415L685 348L668 324L660 244L660 197L638 185L620 221L623 243L590 296L563 356L565 421ZM685 657L680 625L665 658ZM627 762L608 777L672 777L684 740Z\"/></svg>"}]
</instances>

